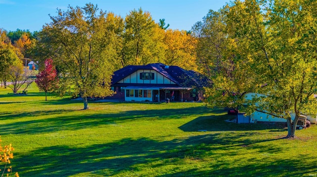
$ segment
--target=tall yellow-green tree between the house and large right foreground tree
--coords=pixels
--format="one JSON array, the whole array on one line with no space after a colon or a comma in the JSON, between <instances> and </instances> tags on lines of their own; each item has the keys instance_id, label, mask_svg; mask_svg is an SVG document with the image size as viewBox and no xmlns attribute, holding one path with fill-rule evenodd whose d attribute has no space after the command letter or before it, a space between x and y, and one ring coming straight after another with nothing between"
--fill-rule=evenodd
<instances>
[{"instance_id":1,"label":"tall yellow-green tree between the house and large right foreground tree","mask_svg":"<svg viewBox=\"0 0 317 177\"><path fill-rule=\"evenodd\" d=\"M197 65L212 81L212 87L206 88L206 101L211 107L238 107L244 102L243 94L252 91L252 70L244 60L239 64L235 52L237 43L227 30L223 9L210 10L202 22L192 28L198 38L196 54Z\"/></svg>"}]
</instances>

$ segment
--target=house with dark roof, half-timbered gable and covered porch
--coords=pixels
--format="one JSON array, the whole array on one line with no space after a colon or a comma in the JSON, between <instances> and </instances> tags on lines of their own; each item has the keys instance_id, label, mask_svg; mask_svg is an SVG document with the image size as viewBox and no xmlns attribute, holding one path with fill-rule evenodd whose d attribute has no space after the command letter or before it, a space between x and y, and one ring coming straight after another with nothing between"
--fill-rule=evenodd
<instances>
[{"instance_id":1,"label":"house with dark roof, half-timbered gable and covered porch","mask_svg":"<svg viewBox=\"0 0 317 177\"><path fill-rule=\"evenodd\" d=\"M115 71L111 79L113 98L139 102L198 101L201 88L208 84L207 77L196 71L161 63L130 65Z\"/></svg>"}]
</instances>

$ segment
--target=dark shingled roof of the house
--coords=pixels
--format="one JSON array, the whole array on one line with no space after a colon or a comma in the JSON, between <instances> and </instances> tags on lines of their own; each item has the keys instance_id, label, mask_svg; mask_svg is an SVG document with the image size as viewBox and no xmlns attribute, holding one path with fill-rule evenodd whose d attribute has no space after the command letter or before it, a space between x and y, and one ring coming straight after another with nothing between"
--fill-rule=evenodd
<instances>
[{"instance_id":1,"label":"dark shingled roof of the house","mask_svg":"<svg viewBox=\"0 0 317 177\"><path fill-rule=\"evenodd\" d=\"M180 87L203 87L210 84L208 78L196 71L187 71L177 66L166 66L161 63L153 63L145 66L129 65L118 71L114 71L111 84L115 84L126 76L138 70L155 70Z\"/></svg>"}]
</instances>

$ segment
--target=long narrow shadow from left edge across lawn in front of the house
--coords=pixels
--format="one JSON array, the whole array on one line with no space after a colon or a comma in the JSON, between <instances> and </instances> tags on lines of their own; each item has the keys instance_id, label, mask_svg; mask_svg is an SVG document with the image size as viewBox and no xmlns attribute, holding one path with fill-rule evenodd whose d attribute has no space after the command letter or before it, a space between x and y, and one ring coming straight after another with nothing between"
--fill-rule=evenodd
<instances>
[{"instance_id":1,"label":"long narrow shadow from left edge across lawn in front of the house","mask_svg":"<svg viewBox=\"0 0 317 177\"><path fill-rule=\"evenodd\" d=\"M22 112L14 114L0 114L0 120L17 119L21 117L31 117L40 115L54 115L48 118L31 119L26 121L16 121L5 124L0 129L0 135L8 134L41 134L43 132L50 133L62 130L79 130L96 126L104 126L108 124L121 123L124 121L155 120L155 119L179 119L189 114L203 114L206 111L211 111L206 107L186 107L176 109L147 109L147 110L129 110L116 113L104 112L85 112L80 114L72 109L54 109L54 110L38 110L32 112ZM71 112L71 113L69 113ZM73 113L72 113L73 112ZM194 112L194 113L193 113Z\"/></svg>"}]
</instances>

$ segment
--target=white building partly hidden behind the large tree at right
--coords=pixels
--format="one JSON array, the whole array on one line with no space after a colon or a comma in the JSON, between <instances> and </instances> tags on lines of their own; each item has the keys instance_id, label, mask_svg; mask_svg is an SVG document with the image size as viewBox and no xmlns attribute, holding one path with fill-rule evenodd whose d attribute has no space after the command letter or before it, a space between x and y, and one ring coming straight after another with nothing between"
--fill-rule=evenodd
<instances>
[{"instance_id":1,"label":"white building partly hidden behind the large tree at right","mask_svg":"<svg viewBox=\"0 0 317 177\"><path fill-rule=\"evenodd\" d=\"M245 94L246 100L252 100L252 97L258 95L258 96L264 96L262 94L255 94L255 93L247 93ZM317 95L314 95L315 98L317 98ZM306 115L307 120L309 120L311 123L316 124L317 123L317 115ZM286 119L284 118L279 118L276 116L273 116L269 114L269 112L263 111L257 111L255 110L251 115L250 115L251 120L257 120L258 122L286 122ZM294 120L295 118L295 113L291 113L291 119Z\"/></svg>"}]
</instances>

